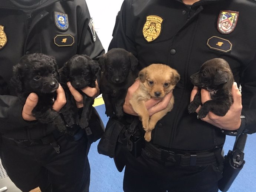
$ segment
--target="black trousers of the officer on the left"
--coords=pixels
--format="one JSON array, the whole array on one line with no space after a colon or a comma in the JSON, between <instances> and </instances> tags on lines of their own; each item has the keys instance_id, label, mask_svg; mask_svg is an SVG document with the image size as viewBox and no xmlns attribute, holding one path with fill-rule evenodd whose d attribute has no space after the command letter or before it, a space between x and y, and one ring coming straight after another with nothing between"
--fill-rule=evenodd
<instances>
[{"instance_id":1,"label":"black trousers of the officer on the left","mask_svg":"<svg viewBox=\"0 0 256 192\"><path fill-rule=\"evenodd\" d=\"M42 192L88 192L90 166L87 139L58 138L60 153L50 144L30 147L1 141L0 157L7 175L24 192L40 187Z\"/></svg>"}]
</instances>

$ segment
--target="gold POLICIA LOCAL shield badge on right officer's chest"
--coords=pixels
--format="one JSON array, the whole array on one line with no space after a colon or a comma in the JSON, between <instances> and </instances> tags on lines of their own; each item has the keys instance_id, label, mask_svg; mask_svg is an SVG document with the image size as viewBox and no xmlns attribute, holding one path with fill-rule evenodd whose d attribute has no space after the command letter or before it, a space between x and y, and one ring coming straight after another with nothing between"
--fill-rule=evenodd
<instances>
[{"instance_id":1,"label":"gold POLICIA LOCAL shield badge on right officer's chest","mask_svg":"<svg viewBox=\"0 0 256 192\"><path fill-rule=\"evenodd\" d=\"M142 30L143 36L145 37L145 40L147 40L147 42L152 42L155 39L157 39L157 37L161 33L162 23L163 23L163 19L159 16L156 16L156 15L147 16L146 23L144 24L144 27Z\"/></svg>"}]
</instances>

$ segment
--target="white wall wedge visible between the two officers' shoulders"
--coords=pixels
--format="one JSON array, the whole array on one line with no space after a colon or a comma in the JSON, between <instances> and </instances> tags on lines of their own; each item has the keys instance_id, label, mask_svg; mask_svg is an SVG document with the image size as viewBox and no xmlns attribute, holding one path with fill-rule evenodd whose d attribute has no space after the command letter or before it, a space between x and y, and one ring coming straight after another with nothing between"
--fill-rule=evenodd
<instances>
[{"instance_id":1,"label":"white wall wedge visible between the two officers' shoulders","mask_svg":"<svg viewBox=\"0 0 256 192\"><path fill-rule=\"evenodd\" d=\"M96 33L106 52L122 2L123 0L86 0Z\"/></svg>"}]
</instances>

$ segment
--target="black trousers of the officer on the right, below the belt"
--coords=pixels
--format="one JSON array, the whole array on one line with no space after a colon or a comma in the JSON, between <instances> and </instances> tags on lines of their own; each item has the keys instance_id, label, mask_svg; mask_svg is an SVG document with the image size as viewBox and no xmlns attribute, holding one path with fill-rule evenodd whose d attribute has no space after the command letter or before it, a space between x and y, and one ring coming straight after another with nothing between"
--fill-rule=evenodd
<instances>
[{"instance_id":1,"label":"black trousers of the officer on the right, below the belt","mask_svg":"<svg viewBox=\"0 0 256 192\"><path fill-rule=\"evenodd\" d=\"M134 158L123 150L127 160L124 172L124 192L218 192L222 177L216 165L177 166L151 159L143 151Z\"/></svg>"}]
</instances>

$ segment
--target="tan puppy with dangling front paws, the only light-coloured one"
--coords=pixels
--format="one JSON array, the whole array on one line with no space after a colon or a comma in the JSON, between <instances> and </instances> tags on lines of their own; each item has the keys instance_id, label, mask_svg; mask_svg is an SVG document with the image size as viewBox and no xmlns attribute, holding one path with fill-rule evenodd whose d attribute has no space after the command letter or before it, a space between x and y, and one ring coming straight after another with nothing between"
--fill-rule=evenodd
<instances>
[{"instance_id":1,"label":"tan puppy with dangling front paws, the only light-coloured one","mask_svg":"<svg viewBox=\"0 0 256 192\"><path fill-rule=\"evenodd\" d=\"M152 97L162 99L174 89L180 80L180 75L175 69L165 64L151 64L139 72L137 79L140 80L140 86L129 102L134 111L140 116L143 129L146 131L144 138L149 142L151 140L151 131L155 128L158 120L173 109L174 96L164 110L155 113L151 117L145 106L145 101Z\"/></svg>"}]
</instances>

